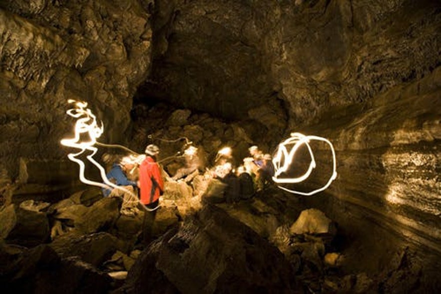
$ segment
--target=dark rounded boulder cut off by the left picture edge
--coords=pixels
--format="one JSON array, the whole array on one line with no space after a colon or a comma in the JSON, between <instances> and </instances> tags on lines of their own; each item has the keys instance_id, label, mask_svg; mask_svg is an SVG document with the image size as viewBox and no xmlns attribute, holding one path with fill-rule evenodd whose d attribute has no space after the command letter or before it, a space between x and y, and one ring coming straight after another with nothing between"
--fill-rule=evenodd
<instances>
[{"instance_id":1,"label":"dark rounded boulder cut off by the left picture edge","mask_svg":"<svg viewBox=\"0 0 441 294\"><path fill-rule=\"evenodd\" d=\"M50 235L46 213L21 209L14 204L1 209L0 223L1 238L13 244L35 246Z\"/></svg>"}]
</instances>

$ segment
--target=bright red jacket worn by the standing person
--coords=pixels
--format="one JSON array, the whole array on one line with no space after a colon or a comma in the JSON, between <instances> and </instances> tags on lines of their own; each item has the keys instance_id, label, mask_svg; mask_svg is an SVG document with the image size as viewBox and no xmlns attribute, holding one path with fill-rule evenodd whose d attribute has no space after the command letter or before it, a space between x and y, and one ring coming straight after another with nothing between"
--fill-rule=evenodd
<instances>
[{"instance_id":1,"label":"bright red jacket worn by the standing person","mask_svg":"<svg viewBox=\"0 0 441 294\"><path fill-rule=\"evenodd\" d=\"M150 156L145 157L139 166L139 182L142 204L150 204L158 200L159 195L164 191L159 165Z\"/></svg>"}]
</instances>

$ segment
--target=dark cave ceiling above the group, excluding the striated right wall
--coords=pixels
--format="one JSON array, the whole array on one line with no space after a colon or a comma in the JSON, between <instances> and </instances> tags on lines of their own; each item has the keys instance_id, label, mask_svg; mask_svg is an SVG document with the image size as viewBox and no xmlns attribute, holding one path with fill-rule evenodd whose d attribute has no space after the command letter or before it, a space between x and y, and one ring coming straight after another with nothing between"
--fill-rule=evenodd
<instances>
[{"instance_id":1,"label":"dark cave ceiling above the group, excluding the striated right wall","mask_svg":"<svg viewBox=\"0 0 441 294\"><path fill-rule=\"evenodd\" d=\"M310 122L440 64L434 1L160 0L143 91L224 117Z\"/></svg>"}]
</instances>

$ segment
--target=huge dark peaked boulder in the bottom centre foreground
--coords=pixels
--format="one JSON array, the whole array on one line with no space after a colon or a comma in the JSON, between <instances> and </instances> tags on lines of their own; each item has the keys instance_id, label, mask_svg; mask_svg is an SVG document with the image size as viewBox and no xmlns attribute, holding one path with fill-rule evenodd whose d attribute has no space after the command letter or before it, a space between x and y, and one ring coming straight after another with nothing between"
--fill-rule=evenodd
<instances>
[{"instance_id":1,"label":"huge dark peaked boulder in the bottom centre foreground","mask_svg":"<svg viewBox=\"0 0 441 294\"><path fill-rule=\"evenodd\" d=\"M182 293L303 292L274 246L212 205L144 250L122 289L154 292L163 280Z\"/></svg>"}]
</instances>

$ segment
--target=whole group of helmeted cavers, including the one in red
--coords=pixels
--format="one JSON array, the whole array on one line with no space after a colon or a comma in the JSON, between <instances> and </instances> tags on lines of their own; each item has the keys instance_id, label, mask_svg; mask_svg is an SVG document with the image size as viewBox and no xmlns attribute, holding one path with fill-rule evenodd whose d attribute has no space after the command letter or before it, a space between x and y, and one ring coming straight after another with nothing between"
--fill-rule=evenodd
<instances>
[{"instance_id":1,"label":"whole group of helmeted cavers, including the one in red","mask_svg":"<svg viewBox=\"0 0 441 294\"><path fill-rule=\"evenodd\" d=\"M249 152L250 157L244 158L243 164L237 168L231 148L223 148L217 153L210 173L213 179L225 185L223 198L226 202L251 198L256 190L268 185L274 175L270 154L263 154L257 146L251 146ZM134 215L138 208L145 210L144 239L149 236L159 197L164 192L162 170L156 158L158 154L159 147L149 144L142 155L115 157L106 153L102 157L108 165L107 180L112 183L102 189L103 195L123 199L121 214ZM201 170L196 147L190 145L180 157L184 158L183 166L168 177L170 180L179 180Z\"/></svg>"}]
</instances>

